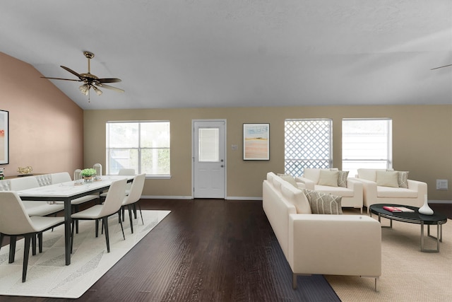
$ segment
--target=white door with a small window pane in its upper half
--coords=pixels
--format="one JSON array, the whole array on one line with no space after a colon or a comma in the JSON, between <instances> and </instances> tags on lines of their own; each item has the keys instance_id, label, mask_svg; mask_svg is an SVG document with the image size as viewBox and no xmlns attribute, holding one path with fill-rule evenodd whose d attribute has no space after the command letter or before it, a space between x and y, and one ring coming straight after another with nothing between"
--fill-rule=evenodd
<instances>
[{"instance_id":1,"label":"white door with a small window pane in its upper half","mask_svg":"<svg viewBox=\"0 0 452 302\"><path fill-rule=\"evenodd\" d=\"M225 198L225 120L193 124L194 198Z\"/></svg>"}]
</instances>

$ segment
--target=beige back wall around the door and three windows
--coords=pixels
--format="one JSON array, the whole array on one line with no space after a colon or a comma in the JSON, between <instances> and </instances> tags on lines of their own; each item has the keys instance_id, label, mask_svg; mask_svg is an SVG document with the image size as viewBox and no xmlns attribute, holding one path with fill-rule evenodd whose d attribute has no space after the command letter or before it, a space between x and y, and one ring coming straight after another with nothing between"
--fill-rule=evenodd
<instances>
[{"instance_id":1,"label":"beige back wall around the door and three windows","mask_svg":"<svg viewBox=\"0 0 452 302\"><path fill-rule=\"evenodd\" d=\"M391 117L393 168L427 182L429 199L451 200L452 190L436 190L436 179L452 185L452 105L322 106L292 108L186 108L85 110L85 166L105 166L105 122L109 120L169 120L171 174L169 180L146 180L144 195L191 196L191 121L227 120L227 197L261 197L268 171L284 171L284 120L333 119L333 163L341 168L341 119ZM270 161L242 160L242 124L270 123ZM231 145L237 144L238 150Z\"/></svg>"}]
</instances>

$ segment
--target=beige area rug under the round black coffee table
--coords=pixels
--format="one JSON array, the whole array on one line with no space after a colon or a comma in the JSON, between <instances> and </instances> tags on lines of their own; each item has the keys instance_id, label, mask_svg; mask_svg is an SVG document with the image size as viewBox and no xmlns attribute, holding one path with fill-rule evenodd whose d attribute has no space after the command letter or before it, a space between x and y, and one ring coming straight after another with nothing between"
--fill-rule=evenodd
<instances>
[{"instance_id":1,"label":"beige area rug under the round black coffee table","mask_svg":"<svg viewBox=\"0 0 452 302\"><path fill-rule=\"evenodd\" d=\"M346 209L344 214L359 214ZM378 216L372 215L374 219ZM388 219L381 220L389 226ZM436 226L430 228L436 236ZM427 226L424 226L427 236ZM443 225L439 252L420 251L420 225L393 221L381 228L381 277L379 292L374 279L325 276L343 302L347 301L452 301L452 221ZM436 248L436 240L424 239L425 248ZM340 261L340 259L338 259Z\"/></svg>"}]
</instances>

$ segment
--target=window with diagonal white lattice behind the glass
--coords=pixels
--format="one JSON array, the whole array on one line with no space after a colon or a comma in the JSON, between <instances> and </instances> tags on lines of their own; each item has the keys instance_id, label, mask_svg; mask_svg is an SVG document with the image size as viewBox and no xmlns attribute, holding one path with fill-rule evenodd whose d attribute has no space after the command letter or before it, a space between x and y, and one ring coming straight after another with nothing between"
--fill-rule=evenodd
<instances>
[{"instance_id":1,"label":"window with diagonal white lattice behind the glass","mask_svg":"<svg viewBox=\"0 0 452 302\"><path fill-rule=\"evenodd\" d=\"M301 176L304 168L331 168L332 125L331 119L285 120L285 173Z\"/></svg>"}]
</instances>

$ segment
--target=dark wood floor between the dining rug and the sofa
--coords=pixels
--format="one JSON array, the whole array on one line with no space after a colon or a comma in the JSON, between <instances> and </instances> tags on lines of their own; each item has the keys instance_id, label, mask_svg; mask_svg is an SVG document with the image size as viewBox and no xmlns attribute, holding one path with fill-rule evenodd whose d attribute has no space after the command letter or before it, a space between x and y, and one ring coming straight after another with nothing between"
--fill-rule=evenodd
<instances>
[{"instance_id":1,"label":"dark wood floor between the dining rug and the sofa","mask_svg":"<svg viewBox=\"0 0 452 302\"><path fill-rule=\"evenodd\" d=\"M340 301L322 276L300 276L292 289L292 272L260 201L143 199L141 207L172 213L81 301Z\"/></svg>"}]
</instances>

